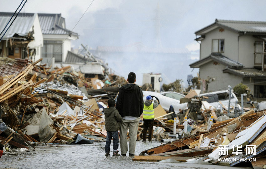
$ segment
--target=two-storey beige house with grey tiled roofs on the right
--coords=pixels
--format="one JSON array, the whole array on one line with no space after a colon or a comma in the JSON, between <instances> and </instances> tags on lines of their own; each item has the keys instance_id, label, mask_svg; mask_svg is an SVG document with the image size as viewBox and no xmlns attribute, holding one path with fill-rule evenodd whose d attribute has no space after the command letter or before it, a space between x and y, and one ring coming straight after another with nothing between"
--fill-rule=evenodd
<instances>
[{"instance_id":1,"label":"two-storey beige house with grey tiled roofs on the right","mask_svg":"<svg viewBox=\"0 0 266 169\"><path fill-rule=\"evenodd\" d=\"M200 59L190 67L200 69L203 81L215 79L209 91L243 83L254 97L266 97L266 22L216 19L195 34Z\"/></svg>"}]
</instances>

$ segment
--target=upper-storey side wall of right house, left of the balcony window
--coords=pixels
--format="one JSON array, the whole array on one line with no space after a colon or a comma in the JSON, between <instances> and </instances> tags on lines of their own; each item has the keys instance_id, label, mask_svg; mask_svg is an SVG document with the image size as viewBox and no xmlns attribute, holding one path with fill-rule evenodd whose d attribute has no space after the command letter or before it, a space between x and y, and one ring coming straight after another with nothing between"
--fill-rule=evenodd
<instances>
[{"instance_id":1,"label":"upper-storey side wall of right house, left of the balcony window","mask_svg":"<svg viewBox=\"0 0 266 169\"><path fill-rule=\"evenodd\" d=\"M241 62L245 68L254 67L255 41L262 40L254 38L252 35L239 36L239 62Z\"/></svg>"}]
</instances>

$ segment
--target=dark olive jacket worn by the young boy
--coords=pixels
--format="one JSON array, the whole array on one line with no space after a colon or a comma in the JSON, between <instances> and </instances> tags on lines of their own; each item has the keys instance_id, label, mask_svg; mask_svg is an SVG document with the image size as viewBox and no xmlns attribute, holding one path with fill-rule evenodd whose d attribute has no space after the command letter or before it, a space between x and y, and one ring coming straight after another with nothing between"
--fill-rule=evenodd
<instances>
[{"instance_id":1,"label":"dark olive jacket worn by the young boy","mask_svg":"<svg viewBox=\"0 0 266 169\"><path fill-rule=\"evenodd\" d=\"M105 130L106 131L118 131L119 121L122 120L119 112L114 108L105 108Z\"/></svg>"}]
</instances>

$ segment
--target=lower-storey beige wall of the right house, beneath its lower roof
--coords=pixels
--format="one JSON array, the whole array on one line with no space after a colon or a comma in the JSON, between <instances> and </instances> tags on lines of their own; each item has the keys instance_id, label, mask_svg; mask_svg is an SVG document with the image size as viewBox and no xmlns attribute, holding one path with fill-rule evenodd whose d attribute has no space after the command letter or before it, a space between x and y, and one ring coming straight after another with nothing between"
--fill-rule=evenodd
<instances>
[{"instance_id":1,"label":"lower-storey beige wall of the right house, beneath its lower roof","mask_svg":"<svg viewBox=\"0 0 266 169\"><path fill-rule=\"evenodd\" d=\"M209 83L208 91L218 91L227 89L228 85L232 88L243 81L240 76L223 73L223 69L227 66L223 64L213 64L213 61L200 66L200 78L207 79L207 77L215 78ZM201 86L202 89L202 86Z\"/></svg>"}]
</instances>

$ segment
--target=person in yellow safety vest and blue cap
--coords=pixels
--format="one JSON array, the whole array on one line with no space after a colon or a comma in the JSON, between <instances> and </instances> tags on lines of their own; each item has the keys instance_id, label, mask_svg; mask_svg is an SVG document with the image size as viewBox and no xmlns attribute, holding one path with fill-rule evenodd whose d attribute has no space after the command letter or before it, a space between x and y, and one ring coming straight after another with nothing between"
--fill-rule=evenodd
<instances>
[{"instance_id":1,"label":"person in yellow safety vest and blue cap","mask_svg":"<svg viewBox=\"0 0 266 169\"><path fill-rule=\"evenodd\" d=\"M158 101L154 98L152 102L151 96L146 97L143 108L143 142L146 142L147 130L149 130L149 142L151 142L153 135L153 121L154 121L154 109L159 105Z\"/></svg>"}]
</instances>

